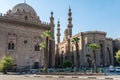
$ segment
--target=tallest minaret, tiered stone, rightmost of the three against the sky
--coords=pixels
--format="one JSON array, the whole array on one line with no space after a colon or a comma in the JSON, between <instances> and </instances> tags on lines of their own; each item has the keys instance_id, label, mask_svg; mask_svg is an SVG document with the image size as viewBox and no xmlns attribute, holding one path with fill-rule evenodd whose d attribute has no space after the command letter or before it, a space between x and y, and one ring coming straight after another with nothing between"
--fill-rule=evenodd
<instances>
[{"instance_id":1,"label":"tallest minaret, tiered stone, rightmost of the three against the sky","mask_svg":"<svg viewBox=\"0 0 120 80\"><path fill-rule=\"evenodd\" d=\"M68 38L70 38L72 36L72 12L71 12L71 8L69 8L69 12L68 12Z\"/></svg>"}]
</instances>

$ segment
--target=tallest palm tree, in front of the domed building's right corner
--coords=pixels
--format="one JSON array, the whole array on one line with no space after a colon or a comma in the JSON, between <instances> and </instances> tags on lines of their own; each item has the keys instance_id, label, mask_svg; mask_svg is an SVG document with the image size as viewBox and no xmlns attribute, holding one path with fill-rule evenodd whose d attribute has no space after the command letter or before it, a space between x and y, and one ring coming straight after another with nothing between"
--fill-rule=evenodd
<instances>
[{"instance_id":1,"label":"tallest palm tree, in front of the domed building's right corner","mask_svg":"<svg viewBox=\"0 0 120 80\"><path fill-rule=\"evenodd\" d=\"M47 72L48 69L48 55L49 55L49 41L53 40L53 34L51 31L45 31L41 35L43 38L45 38L45 42L41 44L41 46L44 49L44 68L45 72Z\"/></svg>"}]
</instances>

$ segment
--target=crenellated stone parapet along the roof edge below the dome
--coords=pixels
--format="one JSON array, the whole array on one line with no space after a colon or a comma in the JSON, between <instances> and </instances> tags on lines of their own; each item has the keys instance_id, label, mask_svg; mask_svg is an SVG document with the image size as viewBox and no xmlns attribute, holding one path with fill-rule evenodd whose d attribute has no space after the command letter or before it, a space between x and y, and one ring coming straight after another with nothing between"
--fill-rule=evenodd
<instances>
[{"instance_id":1,"label":"crenellated stone parapet along the roof edge below the dome","mask_svg":"<svg viewBox=\"0 0 120 80\"><path fill-rule=\"evenodd\" d=\"M42 22L40 20L25 21L24 17L16 17L16 16L2 14L2 13L0 13L0 22L7 22L7 23L13 23L13 24L20 24L20 25L32 25L32 26L38 26L38 28L50 29L50 23Z\"/></svg>"}]
</instances>

